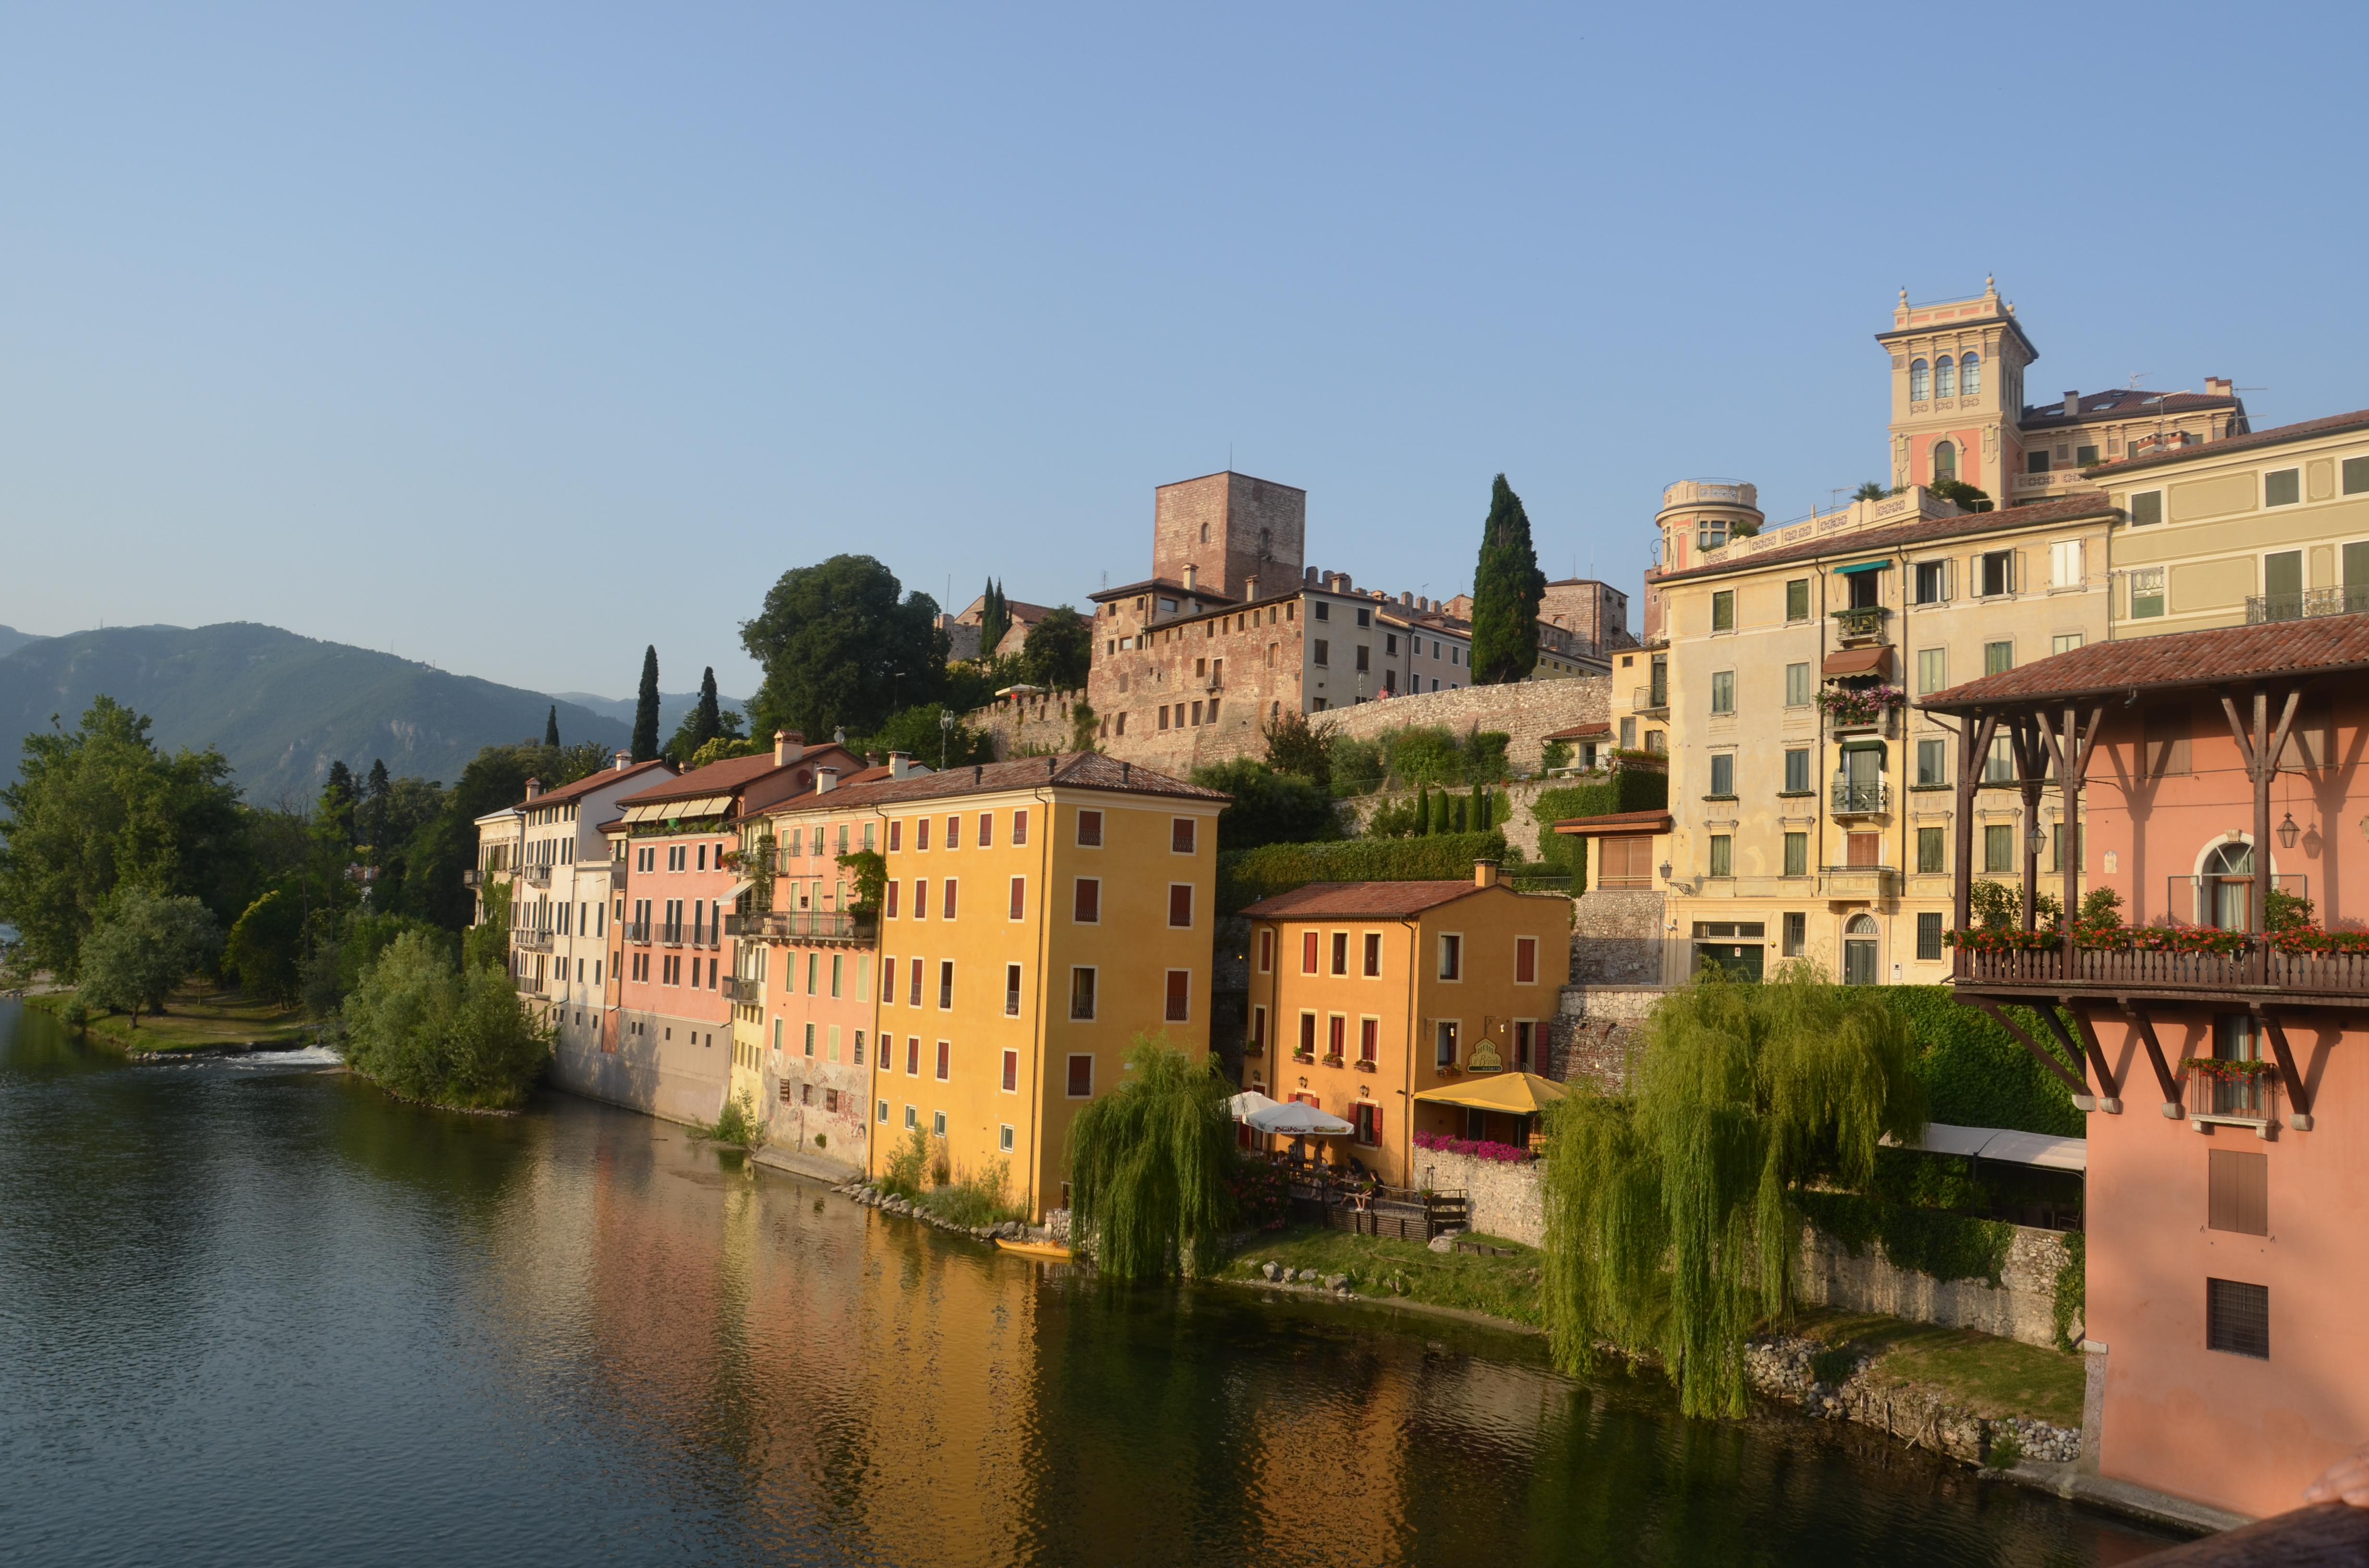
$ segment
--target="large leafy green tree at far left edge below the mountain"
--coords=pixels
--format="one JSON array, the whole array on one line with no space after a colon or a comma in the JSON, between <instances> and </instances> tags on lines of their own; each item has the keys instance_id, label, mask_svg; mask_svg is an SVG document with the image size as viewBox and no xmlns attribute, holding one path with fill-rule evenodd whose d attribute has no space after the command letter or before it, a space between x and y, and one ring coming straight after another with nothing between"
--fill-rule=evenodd
<instances>
[{"instance_id":1,"label":"large leafy green tree at far left edge below the mountain","mask_svg":"<svg viewBox=\"0 0 2369 1568\"><path fill-rule=\"evenodd\" d=\"M24 739L17 779L0 789L0 921L21 959L62 981L83 938L123 883L206 902L216 919L244 907L249 836L220 751L161 756L147 715L99 696L71 734L50 720Z\"/></svg>"}]
</instances>

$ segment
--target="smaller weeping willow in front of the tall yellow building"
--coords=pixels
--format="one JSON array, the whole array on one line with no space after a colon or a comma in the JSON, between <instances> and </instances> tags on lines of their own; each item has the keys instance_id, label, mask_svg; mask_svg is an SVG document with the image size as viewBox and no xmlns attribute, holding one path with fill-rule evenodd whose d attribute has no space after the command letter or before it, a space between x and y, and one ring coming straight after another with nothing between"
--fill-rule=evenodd
<instances>
[{"instance_id":1,"label":"smaller weeping willow in front of the tall yellow building","mask_svg":"<svg viewBox=\"0 0 2369 1568\"><path fill-rule=\"evenodd\" d=\"M1194 1061L1166 1035L1137 1035L1121 1085L1078 1111L1068 1222L1104 1274L1142 1284L1206 1267L1232 1208L1230 1094L1213 1054Z\"/></svg>"}]
</instances>

